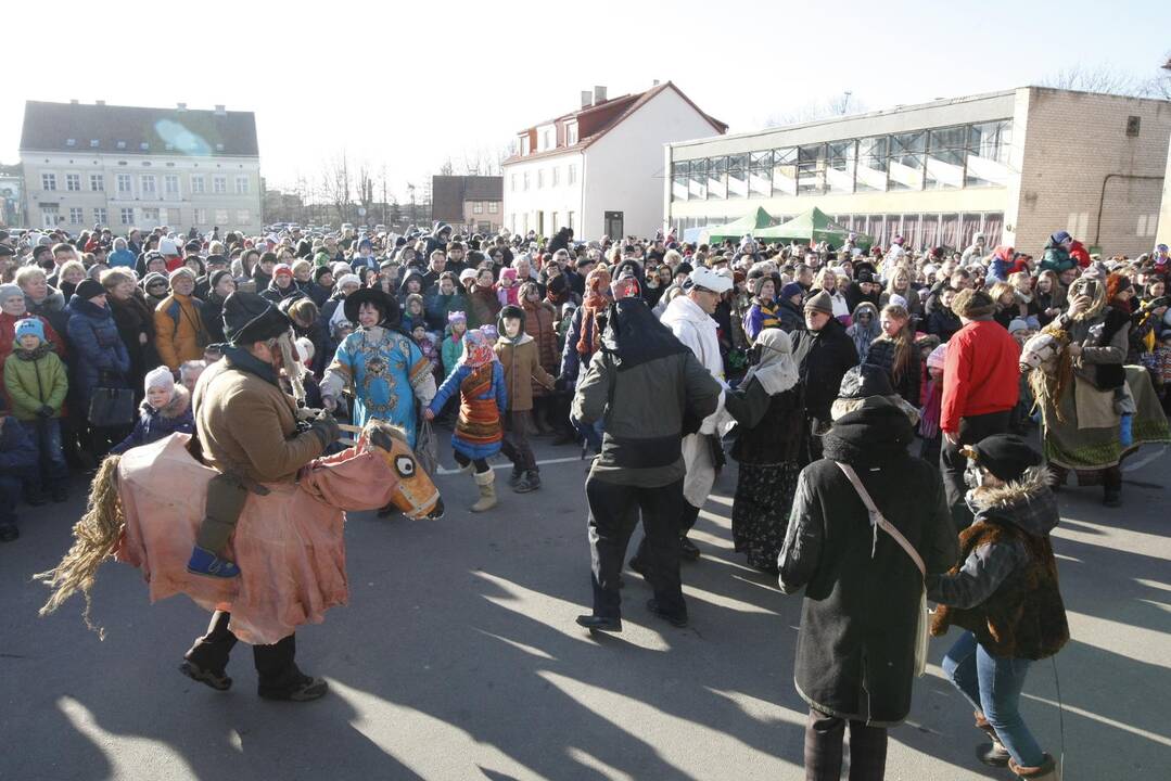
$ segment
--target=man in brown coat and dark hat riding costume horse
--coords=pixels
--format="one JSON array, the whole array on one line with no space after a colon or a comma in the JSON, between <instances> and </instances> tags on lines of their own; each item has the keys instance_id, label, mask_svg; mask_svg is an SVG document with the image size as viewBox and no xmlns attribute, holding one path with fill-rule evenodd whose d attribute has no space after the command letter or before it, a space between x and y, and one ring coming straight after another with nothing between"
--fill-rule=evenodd
<instances>
[{"instance_id":1,"label":"man in brown coat and dark hat riding costume horse","mask_svg":"<svg viewBox=\"0 0 1171 781\"><path fill-rule=\"evenodd\" d=\"M221 559L247 491L263 493L263 482L293 482L297 471L321 455L337 438L337 423L320 413L308 426L299 425L296 403L281 390L279 377L290 340L290 324L275 306L253 293L233 293L224 302L224 335L230 344L224 358L196 385L196 431L204 461L219 471L213 479L220 495L208 492L207 518L197 537L189 570L214 577L239 574ZM233 488L235 492L233 493ZM234 516L233 515L234 511ZM185 655L180 671L220 691L232 685L225 669L235 635L231 614L217 610L207 633ZM259 694L266 699L304 701L327 691L326 681L296 666L296 636L273 645L253 646Z\"/></svg>"}]
</instances>

